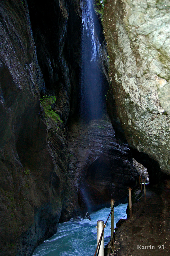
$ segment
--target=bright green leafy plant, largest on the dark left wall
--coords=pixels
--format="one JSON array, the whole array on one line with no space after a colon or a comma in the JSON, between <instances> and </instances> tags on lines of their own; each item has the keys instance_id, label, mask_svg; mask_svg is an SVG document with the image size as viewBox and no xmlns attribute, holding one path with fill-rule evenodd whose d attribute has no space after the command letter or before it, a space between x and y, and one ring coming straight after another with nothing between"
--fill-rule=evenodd
<instances>
[{"instance_id":1,"label":"bright green leafy plant, largest on the dark left wall","mask_svg":"<svg viewBox=\"0 0 170 256\"><path fill-rule=\"evenodd\" d=\"M58 114L55 113L54 110L52 110L52 105L55 103L56 98L55 96L49 96L46 95L43 98L40 99L41 105L44 108L46 118L52 118L55 122L60 121L63 122Z\"/></svg>"}]
</instances>

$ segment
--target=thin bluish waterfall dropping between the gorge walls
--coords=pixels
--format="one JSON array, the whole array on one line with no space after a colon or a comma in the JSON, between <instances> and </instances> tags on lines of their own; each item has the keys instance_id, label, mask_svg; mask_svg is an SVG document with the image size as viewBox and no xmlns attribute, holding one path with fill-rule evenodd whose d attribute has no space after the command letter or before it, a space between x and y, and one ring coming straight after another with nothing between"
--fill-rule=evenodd
<instances>
[{"instance_id":1,"label":"thin bluish waterfall dropping between the gorge walls","mask_svg":"<svg viewBox=\"0 0 170 256\"><path fill-rule=\"evenodd\" d=\"M99 118L104 99L102 74L98 67L100 24L92 0L82 0L80 113L86 119Z\"/></svg>"}]
</instances>

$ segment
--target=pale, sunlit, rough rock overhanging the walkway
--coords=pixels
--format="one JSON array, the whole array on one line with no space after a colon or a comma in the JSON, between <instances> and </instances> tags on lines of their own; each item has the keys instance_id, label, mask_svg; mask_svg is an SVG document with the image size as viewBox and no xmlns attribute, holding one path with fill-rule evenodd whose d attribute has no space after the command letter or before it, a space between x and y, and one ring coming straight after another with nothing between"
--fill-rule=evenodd
<instances>
[{"instance_id":1,"label":"pale, sunlit, rough rock overhanging the walkway","mask_svg":"<svg viewBox=\"0 0 170 256\"><path fill-rule=\"evenodd\" d=\"M109 110L112 123L121 122L130 146L156 160L167 174L169 10L166 0L107 0L103 15L112 81L108 100L115 100Z\"/></svg>"}]
</instances>

